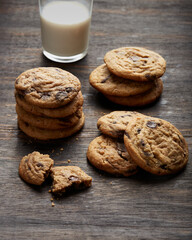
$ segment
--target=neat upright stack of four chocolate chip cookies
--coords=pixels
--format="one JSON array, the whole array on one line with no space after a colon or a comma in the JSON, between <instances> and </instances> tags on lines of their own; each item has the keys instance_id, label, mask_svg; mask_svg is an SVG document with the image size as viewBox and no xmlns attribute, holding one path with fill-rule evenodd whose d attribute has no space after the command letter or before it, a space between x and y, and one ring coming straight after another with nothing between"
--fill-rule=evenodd
<instances>
[{"instance_id":1,"label":"neat upright stack of four chocolate chip cookies","mask_svg":"<svg viewBox=\"0 0 192 240\"><path fill-rule=\"evenodd\" d=\"M81 83L59 68L23 72L15 81L18 125L28 136L49 140L68 137L85 121Z\"/></svg>"}]
</instances>

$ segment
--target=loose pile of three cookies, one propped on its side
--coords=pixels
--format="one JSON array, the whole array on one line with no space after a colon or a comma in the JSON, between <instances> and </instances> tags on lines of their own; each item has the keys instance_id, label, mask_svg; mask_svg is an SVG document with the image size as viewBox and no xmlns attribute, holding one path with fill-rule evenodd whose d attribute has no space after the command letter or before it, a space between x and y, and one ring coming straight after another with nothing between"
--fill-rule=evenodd
<instances>
[{"instance_id":1,"label":"loose pile of three cookies, one propped on its side","mask_svg":"<svg viewBox=\"0 0 192 240\"><path fill-rule=\"evenodd\" d=\"M139 166L152 174L167 175L187 164L187 143L165 120L115 111L101 117L97 126L102 135L90 143L87 157L100 170L129 176Z\"/></svg>"}]
</instances>

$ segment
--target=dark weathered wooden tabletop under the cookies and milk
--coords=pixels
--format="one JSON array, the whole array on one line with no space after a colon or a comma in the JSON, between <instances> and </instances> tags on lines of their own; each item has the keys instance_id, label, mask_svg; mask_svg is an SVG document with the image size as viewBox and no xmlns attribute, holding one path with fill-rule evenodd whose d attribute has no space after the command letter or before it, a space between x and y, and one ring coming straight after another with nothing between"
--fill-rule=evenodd
<instances>
[{"instance_id":1,"label":"dark weathered wooden tabletop under the cookies and milk","mask_svg":"<svg viewBox=\"0 0 192 240\"><path fill-rule=\"evenodd\" d=\"M37 1L0 0L0 239L192 239L191 16L189 0L95 0L87 57L58 64L42 55ZM89 74L108 50L127 45L149 48L167 60L161 99L136 110L170 121L184 135L189 163L177 175L139 172L117 178L87 162L89 142L100 134L97 119L129 110L104 99L89 85ZM15 113L15 78L39 66L76 75L85 100L83 130L48 144L22 133ZM55 199L52 207L51 183L32 187L18 176L20 159L34 150L50 154L55 165L78 165L93 177L92 187Z\"/></svg>"}]
</instances>

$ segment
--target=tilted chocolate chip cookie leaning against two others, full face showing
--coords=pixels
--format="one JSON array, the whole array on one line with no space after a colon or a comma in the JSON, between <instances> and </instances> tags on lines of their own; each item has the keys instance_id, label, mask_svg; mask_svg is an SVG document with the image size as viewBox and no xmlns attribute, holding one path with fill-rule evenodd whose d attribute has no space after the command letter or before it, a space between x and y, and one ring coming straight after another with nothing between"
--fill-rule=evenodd
<instances>
[{"instance_id":1,"label":"tilted chocolate chip cookie leaning against two others, full face showing","mask_svg":"<svg viewBox=\"0 0 192 240\"><path fill-rule=\"evenodd\" d=\"M127 125L124 142L138 166L152 174L176 173L188 161L188 147L182 134L159 118L134 118Z\"/></svg>"}]
</instances>

